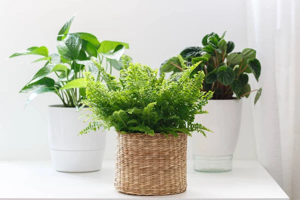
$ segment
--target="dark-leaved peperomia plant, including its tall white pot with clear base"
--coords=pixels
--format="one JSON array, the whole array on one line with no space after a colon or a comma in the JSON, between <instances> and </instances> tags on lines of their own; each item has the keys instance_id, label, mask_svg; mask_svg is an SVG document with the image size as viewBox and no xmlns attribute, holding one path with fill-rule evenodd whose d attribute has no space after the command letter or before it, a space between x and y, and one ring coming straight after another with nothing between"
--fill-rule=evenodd
<instances>
[{"instance_id":1,"label":"dark-leaved peperomia plant, including its tall white pot with clear base","mask_svg":"<svg viewBox=\"0 0 300 200\"><path fill-rule=\"evenodd\" d=\"M213 129L207 138L195 134L192 139L194 169L199 171L228 171L232 169L232 157L239 134L242 97L256 91L254 104L261 94L261 88L251 90L248 74L252 73L258 81L260 62L256 51L245 48L232 52L234 43L224 39L225 32L219 36L212 32L202 39L203 47L191 46L183 49L180 55L187 66L202 61L192 72L205 74L202 91L213 91L213 96L205 109L207 115L196 115ZM182 65L176 57L162 63L160 71L177 73Z\"/></svg>"}]
</instances>

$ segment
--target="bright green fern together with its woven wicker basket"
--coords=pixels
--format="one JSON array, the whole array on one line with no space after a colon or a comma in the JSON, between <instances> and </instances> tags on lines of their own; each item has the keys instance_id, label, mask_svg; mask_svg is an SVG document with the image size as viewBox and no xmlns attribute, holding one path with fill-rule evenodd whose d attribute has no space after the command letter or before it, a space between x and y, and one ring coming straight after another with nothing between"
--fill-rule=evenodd
<instances>
[{"instance_id":1,"label":"bright green fern together with its woven wicker basket","mask_svg":"<svg viewBox=\"0 0 300 200\"><path fill-rule=\"evenodd\" d=\"M182 61L181 57L178 58ZM209 130L193 123L195 114L212 92L202 92L204 73L190 73L199 63L168 79L157 78L157 69L129 63L123 56L120 78L106 73L95 81L85 72L86 99L92 122L83 132L97 127L117 131L114 186L137 195L165 195L186 189L186 139L192 131ZM178 76L180 75L180 77ZM90 127L91 128L90 128Z\"/></svg>"}]
</instances>

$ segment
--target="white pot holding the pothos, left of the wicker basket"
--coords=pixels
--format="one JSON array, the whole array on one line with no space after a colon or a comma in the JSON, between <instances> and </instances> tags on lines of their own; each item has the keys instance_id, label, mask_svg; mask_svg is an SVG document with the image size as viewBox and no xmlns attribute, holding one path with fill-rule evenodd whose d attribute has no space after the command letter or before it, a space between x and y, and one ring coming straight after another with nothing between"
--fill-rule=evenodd
<instances>
[{"instance_id":1,"label":"white pot holding the pothos, left of the wicker basket","mask_svg":"<svg viewBox=\"0 0 300 200\"><path fill-rule=\"evenodd\" d=\"M48 142L57 171L86 172L101 169L106 134L102 130L78 135L88 125L76 108L48 107Z\"/></svg>"}]
</instances>

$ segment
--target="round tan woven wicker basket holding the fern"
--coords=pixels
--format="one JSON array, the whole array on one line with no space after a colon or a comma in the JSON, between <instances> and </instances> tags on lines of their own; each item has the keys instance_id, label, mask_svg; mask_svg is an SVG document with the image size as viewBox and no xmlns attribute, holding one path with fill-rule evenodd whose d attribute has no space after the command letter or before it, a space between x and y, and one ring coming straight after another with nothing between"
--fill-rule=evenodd
<instances>
[{"instance_id":1,"label":"round tan woven wicker basket holding the fern","mask_svg":"<svg viewBox=\"0 0 300 200\"><path fill-rule=\"evenodd\" d=\"M114 186L136 195L167 195L186 190L187 135L117 135Z\"/></svg>"}]
</instances>

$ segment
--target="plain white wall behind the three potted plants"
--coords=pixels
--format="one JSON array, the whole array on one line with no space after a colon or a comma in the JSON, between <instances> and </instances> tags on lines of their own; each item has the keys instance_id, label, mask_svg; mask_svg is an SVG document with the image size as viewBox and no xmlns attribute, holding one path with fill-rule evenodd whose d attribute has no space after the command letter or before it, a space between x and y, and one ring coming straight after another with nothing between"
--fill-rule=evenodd
<instances>
[{"instance_id":1,"label":"plain white wall behind the three potted plants","mask_svg":"<svg viewBox=\"0 0 300 200\"><path fill-rule=\"evenodd\" d=\"M45 45L54 52L56 34L77 13L70 31L101 40L128 42L133 61L159 67L186 46L201 45L206 33L221 34L246 47L243 0L3 0L0 1L0 159L49 159L46 108L60 103L46 93L26 109L28 94L18 91L42 65L35 56L5 60L15 51ZM235 158L255 159L250 103L243 99ZM114 157L115 133L108 132L106 158ZM188 147L190 151L190 145ZM190 156L190 153L188 154Z\"/></svg>"}]
</instances>

